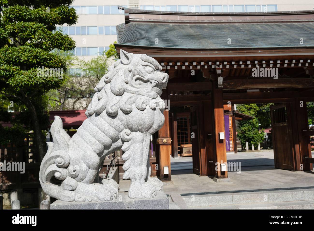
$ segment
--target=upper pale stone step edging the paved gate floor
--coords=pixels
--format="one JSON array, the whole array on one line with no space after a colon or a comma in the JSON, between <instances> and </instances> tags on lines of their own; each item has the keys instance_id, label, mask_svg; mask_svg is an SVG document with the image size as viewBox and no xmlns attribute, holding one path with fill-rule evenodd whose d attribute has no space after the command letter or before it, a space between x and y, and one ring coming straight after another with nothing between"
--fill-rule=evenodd
<instances>
[{"instance_id":1,"label":"upper pale stone step edging the paved gate floor","mask_svg":"<svg viewBox=\"0 0 314 231\"><path fill-rule=\"evenodd\" d=\"M182 196L187 207L230 206L241 204L273 204L274 202L311 201L314 190L260 191Z\"/></svg>"}]
</instances>

